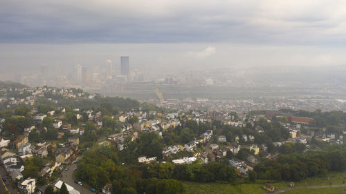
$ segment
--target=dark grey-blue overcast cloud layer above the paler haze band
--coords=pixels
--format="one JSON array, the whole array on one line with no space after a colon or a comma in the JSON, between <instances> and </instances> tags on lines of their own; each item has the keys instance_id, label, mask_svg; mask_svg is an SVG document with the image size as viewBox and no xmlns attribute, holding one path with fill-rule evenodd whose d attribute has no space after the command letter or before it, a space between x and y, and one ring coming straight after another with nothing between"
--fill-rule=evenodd
<instances>
[{"instance_id":1,"label":"dark grey-blue overcast cloud layer above the paler haze band","mask_svg":"<svg viewBox=\"0 0 346 194\"><path fill-rule=\"evenodd\" d=\"M1 1L6 43L345 43L346 1Z\"/></svg>"}]
</instances>

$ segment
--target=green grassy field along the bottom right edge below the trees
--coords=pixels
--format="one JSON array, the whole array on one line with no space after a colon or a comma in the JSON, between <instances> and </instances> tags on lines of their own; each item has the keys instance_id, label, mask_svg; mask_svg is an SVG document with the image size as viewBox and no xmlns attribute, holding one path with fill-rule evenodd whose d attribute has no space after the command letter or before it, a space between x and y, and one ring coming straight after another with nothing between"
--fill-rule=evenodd
<instances>
[{"instance_id":1,"label":"green grassy field along the bottom right edge below the trees","mask_svg":"<svg viewBox=\"0 0 346 194\"><path fill-rule=\"evenodd\" d=\"M345 182L344 182L345 180ZM184 182L186 184L186 193L264 193L266 192L262 186L265 182L270 182L266 180L257 180L253 184L219 184L219 183L206 183L201 184L197 182ZM307 180L302 180L301 182L295 182L295 186L316 186L316 185L329 185L329 184L344 184L346 183L346 172L343 173L328 173L326 177L313 177ZM273 182L275 190L289 187L289 182ZM346 188L323 188L323 191L330 190L330 193L346 193ZM307 189L314 192L318 189ZM304 193L305 190L294 190L290 192ZM341 192L338 192L341 191ZM305 193L307 193L305 191ZM322 193L322 192L320 192Z\"/></svg>"}]
</instances>

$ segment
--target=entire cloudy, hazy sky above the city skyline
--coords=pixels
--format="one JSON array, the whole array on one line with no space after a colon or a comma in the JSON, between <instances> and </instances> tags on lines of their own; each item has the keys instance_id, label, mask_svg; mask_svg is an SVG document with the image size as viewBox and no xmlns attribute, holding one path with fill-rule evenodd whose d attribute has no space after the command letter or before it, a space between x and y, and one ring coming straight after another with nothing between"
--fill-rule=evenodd
<instances>
[{"instance_id":1,"label":"entire cloudy, hazy sky above the city skyline","mask_svg":"<svg viewBox=\"0 0 346 194\"><path fill-rule=\"evenodd\" d=\"M1 1L0 70L343 66L346 1Z\"/></svg>"}]
</instances>

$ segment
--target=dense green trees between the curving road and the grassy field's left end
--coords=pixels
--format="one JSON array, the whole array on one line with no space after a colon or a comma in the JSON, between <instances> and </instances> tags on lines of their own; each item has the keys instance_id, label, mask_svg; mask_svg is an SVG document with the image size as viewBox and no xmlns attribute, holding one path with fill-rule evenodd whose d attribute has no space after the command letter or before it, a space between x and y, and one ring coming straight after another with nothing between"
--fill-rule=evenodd
<instances>
[{"instance_id":1,"label":"dense green trees between the curving road and the grassy field's left end","mask_svg":"<svg viewBox=\"0 0 346 194\"><path fill-rule=\"evenodd\" d=\"M182 193L184 186L172 179L143 178L136 167L122 168L114 147L88 151L78 162L76 177L100 190L111 183L112 193ZM172 164L171 164L172 165Z\"/></svg>"}]
</instances>

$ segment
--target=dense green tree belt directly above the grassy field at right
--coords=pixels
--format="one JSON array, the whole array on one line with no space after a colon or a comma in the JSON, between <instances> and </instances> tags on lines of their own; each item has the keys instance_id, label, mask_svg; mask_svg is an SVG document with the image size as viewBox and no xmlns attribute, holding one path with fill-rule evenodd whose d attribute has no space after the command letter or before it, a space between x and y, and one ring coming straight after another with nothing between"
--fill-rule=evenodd
<instances>
[{"instance_id":1,"label":"dense green tree belt directly above the grassy field at right","mask_svg":"<svg viewBox=\"0 0 346 194\"><path fill-rule=\"evenodd\" d=\"M327 151L291 153L276 160L268 159L254 168L259 179L300 181L325 175L328 171L346 170L346 149L333 146Z\"/></svg>"}]
</instances>

